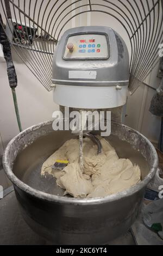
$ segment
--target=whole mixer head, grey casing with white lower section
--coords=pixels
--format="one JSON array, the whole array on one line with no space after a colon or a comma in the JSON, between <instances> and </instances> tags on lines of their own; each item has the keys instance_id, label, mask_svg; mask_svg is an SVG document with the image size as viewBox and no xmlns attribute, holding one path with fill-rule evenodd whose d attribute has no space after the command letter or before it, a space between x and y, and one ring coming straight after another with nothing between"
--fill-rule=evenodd
<instances>
[{"instance_id":1,"label":"whole mixer head, grey casing with white lower section","mask_svg":"<svg viewBox=\"0 0 163 256\"><path fill-rule=\"evenodd\" d=\"M120 35L102 26L66 31L53 56L54 102L74 108L113 108L126 103L129 54Z\"/></svg>"}]
</instances>

